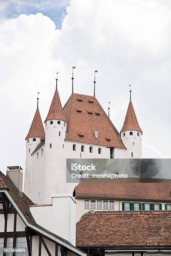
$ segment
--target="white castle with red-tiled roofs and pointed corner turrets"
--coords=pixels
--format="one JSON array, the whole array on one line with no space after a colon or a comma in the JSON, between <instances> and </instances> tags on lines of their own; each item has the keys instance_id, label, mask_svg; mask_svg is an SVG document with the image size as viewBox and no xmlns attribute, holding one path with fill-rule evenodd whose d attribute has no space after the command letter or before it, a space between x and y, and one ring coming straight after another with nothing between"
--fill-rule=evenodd
<instances>
[{"instance_id":1,"label":"white castle with red-tiled roofs and pointed corner turrets","mask_svg":"<svg viewBox=\"0 0 171 256\"><path fill-rule=\"evenodd\" d=\"M94 96L73 93L62 108L58 79L43 123L38 104L26 141L24 191L37 204L51 203L51 194L72 194L66 183L67 158L141 158L142 131L133 104L119 133Z\"/></svg>"}]
</instances>

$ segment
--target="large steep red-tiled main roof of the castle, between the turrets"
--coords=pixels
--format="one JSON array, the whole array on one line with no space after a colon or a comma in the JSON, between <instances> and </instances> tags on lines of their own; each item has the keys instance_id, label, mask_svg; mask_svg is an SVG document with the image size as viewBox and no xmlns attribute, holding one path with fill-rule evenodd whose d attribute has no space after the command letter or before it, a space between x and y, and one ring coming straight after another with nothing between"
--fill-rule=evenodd
<instances>
[{"instance_id":1,"label":"large steep red-tiled main roof of the castle, between the turrets","mask_svg":"<svg viewBox=\"0 0 171 256\"><path fill-rule=\"evenodd\" d=\"M125 148L119 133L95 97L72 94L63 108L67 141ZM94 131L98 131L98 139Z\"/></svg>"}]
</instances>

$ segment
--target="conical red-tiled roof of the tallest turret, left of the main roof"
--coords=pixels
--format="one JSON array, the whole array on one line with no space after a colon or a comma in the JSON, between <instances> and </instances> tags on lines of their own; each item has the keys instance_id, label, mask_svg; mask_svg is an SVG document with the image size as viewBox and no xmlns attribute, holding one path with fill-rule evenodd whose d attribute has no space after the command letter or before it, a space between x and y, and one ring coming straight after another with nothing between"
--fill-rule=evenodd
<instances>
[{"instance_id":1,"label":"conical red-tiled roof of the tallest turret, left of the main roof","mask_svg":"<svg viewBox=\"0 0 171 256\"><path fill-rule=\"evenodd\" d=\"M48 115L47 115L47 118L45 119L45 121L51 120L51 119L58 119L58 120L65 121L65 116L63 114L63 109L62 109L62 105L60 102L58 90L55 90L53 100L50 105L50 109L49 109L49 112L48 112Z\"/></svg>"}]
</instances>

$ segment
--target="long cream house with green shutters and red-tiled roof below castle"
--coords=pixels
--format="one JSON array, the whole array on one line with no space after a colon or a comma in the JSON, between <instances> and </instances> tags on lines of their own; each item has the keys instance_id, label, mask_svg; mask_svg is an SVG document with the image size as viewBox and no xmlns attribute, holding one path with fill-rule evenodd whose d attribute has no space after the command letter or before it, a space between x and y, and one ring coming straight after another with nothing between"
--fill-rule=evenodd
<instances>
[{"instance_id":1,"label":"long cream house with green shutters and red-tiled roof below castle","mask_svg":"<svg viewBox=\"0 0 171 256\"><path fill-rule=\"evenodd\" d=\"M75 187L76 220L89 211L171 211L171 180L89 178Z\"/></svg>"}]
</instances>

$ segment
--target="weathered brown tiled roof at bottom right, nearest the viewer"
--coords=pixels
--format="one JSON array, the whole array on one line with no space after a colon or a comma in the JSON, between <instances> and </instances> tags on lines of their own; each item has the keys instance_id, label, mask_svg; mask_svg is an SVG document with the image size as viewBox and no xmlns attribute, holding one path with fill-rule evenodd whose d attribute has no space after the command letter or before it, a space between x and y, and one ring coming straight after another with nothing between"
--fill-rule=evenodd
<instances>
[{"instance_id":1,"label":"weathered brown tiled roof at bottom right, nearest the viewer","mask_svg":"<svg viewBox=\"0 0 171 256\"><path fill-rule=\"evenodd\" d=\"M171 212L95 212L76 225L76 246L170 246Z\"/></svg>"}]
</instances>

